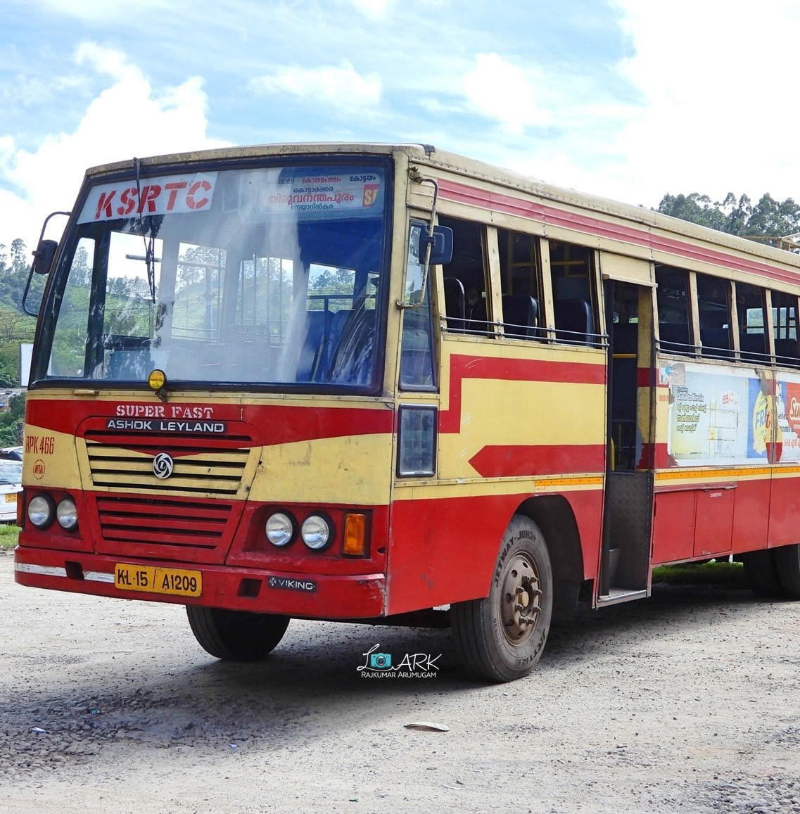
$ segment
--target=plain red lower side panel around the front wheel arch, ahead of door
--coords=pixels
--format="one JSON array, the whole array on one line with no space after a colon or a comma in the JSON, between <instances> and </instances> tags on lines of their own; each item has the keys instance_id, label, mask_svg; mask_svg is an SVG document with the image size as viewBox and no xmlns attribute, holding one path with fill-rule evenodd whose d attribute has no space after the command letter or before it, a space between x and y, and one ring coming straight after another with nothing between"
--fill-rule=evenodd
<instances>
[{"instance_id":1,"label":"plain red lower side panel around the front wheel arch, ahead of door","mask_svg":"<svg viewBox=\"0 0 800 814\"><path fill-rule=\"evenodd\" d=\"M434 488L413 491L419 495ZM505 492L393 501L387 575L389 615L487 596L505 527L522 502L531 497L508 494L507 488ZM601 488L567 492L563 497L575 514L584 579L593 579L600 551ZM548 544L557 546L558 540L548 540Z\"/></svg>"}]
</instances>

